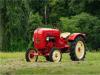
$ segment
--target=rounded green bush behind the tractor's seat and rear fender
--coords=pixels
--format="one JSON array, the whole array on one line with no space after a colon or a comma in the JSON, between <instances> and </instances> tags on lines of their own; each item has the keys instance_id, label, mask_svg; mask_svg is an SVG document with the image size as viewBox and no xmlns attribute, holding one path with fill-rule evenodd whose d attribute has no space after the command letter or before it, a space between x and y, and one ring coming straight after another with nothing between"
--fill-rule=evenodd
<instances>
[{"instance_id":1,"label":"rounded green bush behind the tractor's seat and rear fender","mask_svg":"<svg viewBox=\"0 0 100 75\"><path fill-rule=\"evenodd\" d=\"M100 20L97 17L81 13L71 18L61 17L60 24L63 31L85 33L88 48L100 48Z\"/></svg>"}]
</instances>

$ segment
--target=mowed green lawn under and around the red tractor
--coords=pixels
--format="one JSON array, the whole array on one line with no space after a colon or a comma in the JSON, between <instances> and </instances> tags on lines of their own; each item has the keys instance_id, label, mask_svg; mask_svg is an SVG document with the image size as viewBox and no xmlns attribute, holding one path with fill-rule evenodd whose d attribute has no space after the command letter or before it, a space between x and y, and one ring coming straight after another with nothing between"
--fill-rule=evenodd
<instances>
[{"instance_id":1,"label":"mowed green lawn under and around the red tractor","mask_svg":"<svg viewBox=\"0 0 100 75\"><path fill-rule=\"evenodd\" d=\"M74 62L63 54L62 62L25 61L24 52L0 53L0 75L100 75L100 52L87 52L84 61Z\"/></svg>"}]
</instances>

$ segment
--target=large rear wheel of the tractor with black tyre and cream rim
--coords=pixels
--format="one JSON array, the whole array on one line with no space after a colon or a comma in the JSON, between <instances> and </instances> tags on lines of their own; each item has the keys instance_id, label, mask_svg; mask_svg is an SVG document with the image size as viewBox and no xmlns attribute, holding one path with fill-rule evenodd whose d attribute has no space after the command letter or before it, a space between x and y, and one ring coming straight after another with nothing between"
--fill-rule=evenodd
<instances>
[{"instance_id":1,"label":"large rear wheel of the tractor with black tyre and cream rim","mask_svg":"<svg viewBox=\"0 0 100 75\"><path fill-rule=\"evenodd\" d=\"M82 37L77 37L70 42L70 58L73 61L84 60L86 54L85 42Z\"/></svg>"}]
</instances>

